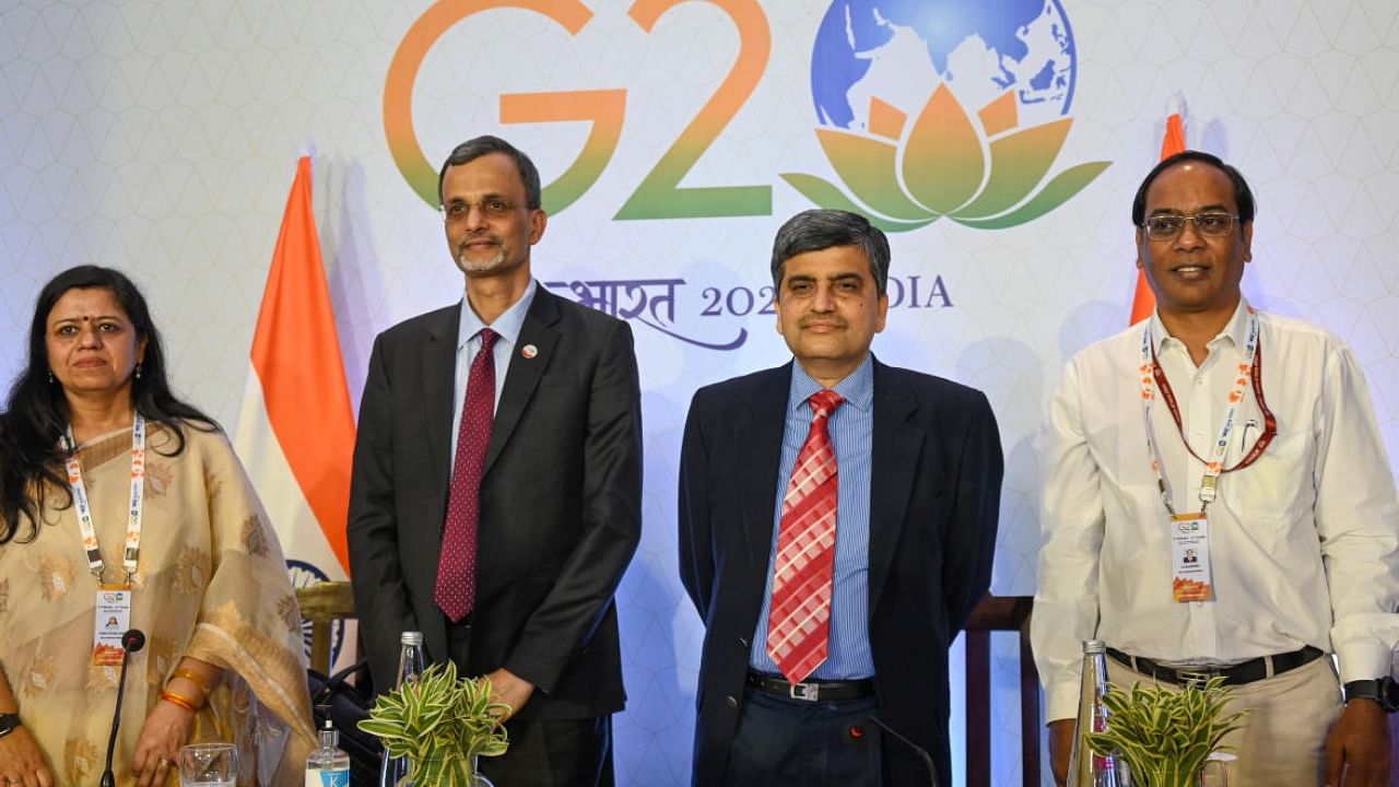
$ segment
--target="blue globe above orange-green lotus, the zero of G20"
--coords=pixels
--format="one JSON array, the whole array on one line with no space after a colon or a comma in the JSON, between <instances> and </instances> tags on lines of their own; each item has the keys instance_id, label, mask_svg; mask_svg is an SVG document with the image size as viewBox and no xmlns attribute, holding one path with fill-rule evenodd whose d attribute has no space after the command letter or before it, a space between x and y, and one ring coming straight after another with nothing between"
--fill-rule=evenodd
<instances>
[{"instance_id":1,"label":"blue globe above orange-green lotus, the zero of G20","mask_svg":"<svg viewBox=\"0 0 1399 787\"><path fill-rule=\"evenodd\" d=\"M942 217L1002 230L1074 196L1108 161L1048 181L1069 134L1074 46L1058 0L992 10L978 3L929 8L914 0L834 3L817 34L813 94L817 139L841 185L782 178L821 207L860 213L886 231ZM936 85L916 116L881 98L908 74ZM902 76L902 80L894 76ZM954 94L956 88L956 94ZM928 88L925 88L926 91ZM902 106L918 106L902 99ZM972 118L958 95L985 105ZM1035 122L1021 127L1021 115Z\"/></svg>"}]
</instances>

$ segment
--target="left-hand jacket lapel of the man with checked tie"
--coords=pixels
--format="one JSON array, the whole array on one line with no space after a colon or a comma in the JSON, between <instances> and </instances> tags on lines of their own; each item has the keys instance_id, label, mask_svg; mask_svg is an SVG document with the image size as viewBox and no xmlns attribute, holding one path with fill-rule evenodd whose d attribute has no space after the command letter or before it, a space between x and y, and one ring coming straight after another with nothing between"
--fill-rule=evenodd
<instances>
[{"instance_id":1,"label":"left-hand jacket lapel of the man with checked tie","mask_svg":"<svg viewBox=\"0 0 1399 787\"><path fill-rule=\"evenodd\" d=\"M739 408L732 424L732 455L739 457L737 494L744 546L760 574L767 571L772 556L775 485L786 486L786 479L776 476L782 464L782 433L790 391L792 364L767 371L751 406Z\"/></svg>"}]
</instances>

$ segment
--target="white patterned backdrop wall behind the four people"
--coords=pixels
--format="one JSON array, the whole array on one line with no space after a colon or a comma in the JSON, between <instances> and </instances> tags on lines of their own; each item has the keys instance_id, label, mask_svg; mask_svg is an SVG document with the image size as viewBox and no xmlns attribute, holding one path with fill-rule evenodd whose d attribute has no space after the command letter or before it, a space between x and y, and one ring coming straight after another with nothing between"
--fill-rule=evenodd
<instances>
[{"instance_id":1,"label":"white patterned backdrop wall behind the four people","mask_svg":"<svg viewBox=\"0 0 1399 787\"><path fill-rule=\"evenodd\" d=\"M1111 165L1018 227L942 218L894 234L893 273L908 293L916 277L921 295L916 307L905 298L891 309L874 344L884 361L990 396L1007 458L999 594L1034 591L1035 434L1066 357L1126 323L1136 274L1129 203L1157 158L1175 91L1189 102L1188 144L1237 164L1258 193L1247 295L1353 344L1389 452L1399 451L1399 7L1062 3L1046 13L1072 25L1072 104L1063 115L1021 104L1021 120L1072 120L1049 176ZM813 42L830 3L639 0L638 15L656 15L648 32L627 3L593 0L576 35L550 15L585 8L579 3L466 14L497 4L459 0L452 8L464 18L425 49L410 99L422 154L435 167L457 141L494 132L529 151L550 182L578 158L590 125L506 125L499 97L624 90L616 153L596 183L551 217L534 272L543 281L683 280L673 315L652 286L648 311L632 321L646 424L645 535L621 588L631 700L617 721L621 781L680 784L701 637L676 580L680 429L698 385L788 357L772 316L754 312L774 231L811 207L782 175L841 183L814 133L811 97ZM49 276L112 265L151 298L178 389L235 427L280 211L309 139L319 151L326 273L358 403L374 335L450 302L462 287L441 220L400 174L385 133L390 62L429 8L443 11L407 0L0 0L0 328L8 335L0 375L8 379L22 361L34 295ZM743 60L764 46L765 62ZM750 78L751 94L729 88L732 118L698 150L684 129L736 60L733 74ZM936 76L879 73L886 98L914 102L900 106L912 123ZM684 186L767 188L771 209L614 218L677 140L698 151ZM741 346L730 350L690 342L732 343L740 332ZM1011 654L1010 643L997 644L999 669L1013 668ZM1020 779L1013 690L1009 679L996 690L995 784Z\"/></svg>"}]
</instances>

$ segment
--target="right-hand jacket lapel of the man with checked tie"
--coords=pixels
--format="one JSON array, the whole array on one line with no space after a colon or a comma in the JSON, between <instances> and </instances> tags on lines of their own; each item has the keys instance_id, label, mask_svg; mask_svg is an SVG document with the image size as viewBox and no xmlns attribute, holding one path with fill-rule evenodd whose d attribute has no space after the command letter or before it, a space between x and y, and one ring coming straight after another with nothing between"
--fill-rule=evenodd
<instances>
[{"instance_id":1,"label":"right-hand jacket lapel of the man with checked tie","mask_svg":"<svg viewBox=\"0 0 1399 787\"><path fill-rule=\"evenodd\" d=\"M873 613L894 562L923 433L907 424L918 402L902 379L874 361L874 461L870 478L869 604Z\"/></svg>"}]
</instances>

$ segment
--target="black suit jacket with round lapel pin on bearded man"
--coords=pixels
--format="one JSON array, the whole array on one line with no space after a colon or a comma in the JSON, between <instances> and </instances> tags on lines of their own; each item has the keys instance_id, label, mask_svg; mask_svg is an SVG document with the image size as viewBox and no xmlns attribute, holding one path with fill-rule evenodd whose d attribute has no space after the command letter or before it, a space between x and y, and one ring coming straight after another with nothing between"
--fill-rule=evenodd
<instances>
[{"instance_id":1,"label":"black suit jacket with round lapel pin on bearded man","mask_svg":"<svg viewBox=\"0 0 1399 787\"><path fill-rule=\"evenodd\" d=\"M350 490L350 569L369 665L392 688L399 633L448 657L432 601L450 485L462 304L375 339ZM525 357L522 349L537 354ZM466 668L537 690L520 718L621 710L613 592L641 538L641 394L625 322L539 286L481 479L477 601Z\"/></svg>"}]
</instances>

